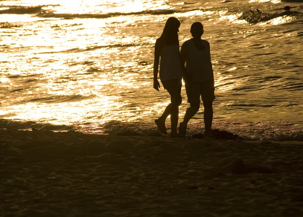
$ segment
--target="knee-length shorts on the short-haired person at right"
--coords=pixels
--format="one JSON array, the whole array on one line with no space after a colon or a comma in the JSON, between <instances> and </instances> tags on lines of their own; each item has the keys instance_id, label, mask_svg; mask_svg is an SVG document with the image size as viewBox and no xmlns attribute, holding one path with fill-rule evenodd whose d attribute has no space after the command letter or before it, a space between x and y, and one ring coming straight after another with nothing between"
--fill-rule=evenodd
<instances>
[{"instance_id":1,"label":"knee-length shorts on the short-haired person at right","mask_svg":"<svg viewBox=\"0 0 303 217\"><path fill-rule=\"evenodd\" d=\"M185 83L187 102L200 103L202 101L213 101L215 97L215 88L211 81L205 82L186 82Z\"/></svg>"}]
</instances>

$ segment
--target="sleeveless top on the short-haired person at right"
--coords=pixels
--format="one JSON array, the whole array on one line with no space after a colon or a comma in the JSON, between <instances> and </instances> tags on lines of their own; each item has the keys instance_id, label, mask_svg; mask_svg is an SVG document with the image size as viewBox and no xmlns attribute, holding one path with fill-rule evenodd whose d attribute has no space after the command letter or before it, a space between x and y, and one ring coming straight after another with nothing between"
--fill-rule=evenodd
<instances>
[{"instance_id":1,"label":"sleeveless top on the short-haired person at right","mask_svg":"<svg viewBox=\"0 0 303 217\"><path fill-rule=\"evenodd\" d=\"M208 43L203 44L207 45L204 50L197 49L192 39L187 40L183 44L186 46L184 48L187 51L185 67L192 81L209 81L214 77L210 47Z\"/></svg>"}]
</instances>

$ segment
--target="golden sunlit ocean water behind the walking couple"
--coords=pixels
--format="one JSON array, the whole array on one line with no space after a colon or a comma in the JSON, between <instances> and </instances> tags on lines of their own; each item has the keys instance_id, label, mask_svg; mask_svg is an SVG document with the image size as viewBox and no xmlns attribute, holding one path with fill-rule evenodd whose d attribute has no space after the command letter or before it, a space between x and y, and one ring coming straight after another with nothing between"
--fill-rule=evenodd
<instances>
[{"instance_id":1,"label":"golden sunlit ocean water behind the walking couple","mask_svg":"<svg viewBox=\"0 0 303 217\"><path fill-rule=\"evenodd\" d=\"M204 25L215 128L302 139L301 0L0 1L0 128L156 131L170 98L153 89L154 45L171 16L180 45ZM202 106L189 126L203 131Z\"/></svg>"}]
</instances>

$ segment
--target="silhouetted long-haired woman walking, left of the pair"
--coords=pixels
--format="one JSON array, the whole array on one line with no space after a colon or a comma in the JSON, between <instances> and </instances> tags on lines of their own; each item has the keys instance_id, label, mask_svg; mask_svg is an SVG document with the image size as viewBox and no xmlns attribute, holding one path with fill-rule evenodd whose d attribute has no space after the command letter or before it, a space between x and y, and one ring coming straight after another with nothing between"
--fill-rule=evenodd
<instances>
[{"instance_id":1,"label":"silhouetted long-haired woman walking, left of the pair","mask_svg":"<svg viewBox=\"0 0 303 217\"><path fill-rule=\"evenodd\" d=\"M165 108L160 118L155 120L159 130L167 134L165 120L171 115L171 137L180 136L177 132L179 105L182 103L182 66L180 61L178 32L180 21L170 17L164 26L163 33L156 40L154 61L154 89L159 91L158 69L160 60L160 81L171 96L171 103ZM185 67L184 67L185 68Z\"/></svg>"}]
</instances>

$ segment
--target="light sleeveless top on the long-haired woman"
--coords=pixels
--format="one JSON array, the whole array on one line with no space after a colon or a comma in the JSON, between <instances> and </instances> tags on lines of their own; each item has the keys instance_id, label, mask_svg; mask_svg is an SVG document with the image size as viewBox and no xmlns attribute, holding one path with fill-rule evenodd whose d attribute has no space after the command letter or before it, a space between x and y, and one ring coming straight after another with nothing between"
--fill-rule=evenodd
<instances>
[{"instance_id":1,"label":"light sleeveless top on the long-haired woman","mask_svg":"<svg viewBox=\"0 0 303 217\"><path fill-rule=\"evenodd\" d=\"M160 80L168 81L182 78L178 45L164 45L160 54Z\"/></svg>"}]
</instances>

